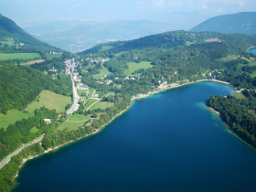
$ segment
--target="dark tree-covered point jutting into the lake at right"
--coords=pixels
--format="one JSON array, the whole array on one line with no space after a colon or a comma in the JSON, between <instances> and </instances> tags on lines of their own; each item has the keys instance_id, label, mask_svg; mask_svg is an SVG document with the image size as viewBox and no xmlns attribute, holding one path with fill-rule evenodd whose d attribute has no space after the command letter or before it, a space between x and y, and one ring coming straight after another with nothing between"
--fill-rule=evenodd
<instances>
[{"instance_id":1,"label":"dark tree-covered point jutting into the lake at right","mask_svg":"<svg viewBox=\"0 0 256 192\"><path fill-rule=\"evenodd\" d=\"M256 94L255 91L246 91L246 99L236 99L228 96L212 96L208 99L209 107L220 112L220 117L237 133L240 138L252 146L256 146Z\"/></svg>"}]
</instances>

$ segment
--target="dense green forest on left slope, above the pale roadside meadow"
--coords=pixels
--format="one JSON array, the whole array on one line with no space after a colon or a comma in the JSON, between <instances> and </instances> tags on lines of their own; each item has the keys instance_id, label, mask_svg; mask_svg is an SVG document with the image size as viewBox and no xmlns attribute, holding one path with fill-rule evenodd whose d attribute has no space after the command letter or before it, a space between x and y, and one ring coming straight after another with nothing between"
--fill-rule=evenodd
<instances>
[{"instance_id":1,"label":"dense green forest on left slope, above the pale roadside meadow","mask_svg":"<svg viewBox=\"0 0 256 192\"><path fill-rule=\"evenodd\" d=\"M37 69L23 66L4 65L0 67L0 112L10 109L24 110L42 90L71 95L72 83L69 77L59 74L57 80L44 75Z\"/></svg>"}]
</instances>

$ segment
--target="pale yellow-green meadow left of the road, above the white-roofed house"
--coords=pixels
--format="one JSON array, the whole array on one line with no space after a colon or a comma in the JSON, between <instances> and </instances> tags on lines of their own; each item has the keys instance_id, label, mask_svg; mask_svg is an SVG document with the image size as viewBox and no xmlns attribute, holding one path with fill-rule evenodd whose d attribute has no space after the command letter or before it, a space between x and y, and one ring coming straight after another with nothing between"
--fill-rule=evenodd
<instances>
[{"instance_id":1,"label":"pale yellow-green meadow left of the road, above the white-roofed house","mask_svg":"<svg viewBox=\"0 0 256 192\"><path fill-rule=\"evenodd\" d=\"M65 112L67 104L71 103L71 98L56 94L52 91L41 91L39 101L33 101L27 106L27 112L34 112L36 109L45 106L49 110L56 109L56 112Z\"/></svg>"}]
</instances>

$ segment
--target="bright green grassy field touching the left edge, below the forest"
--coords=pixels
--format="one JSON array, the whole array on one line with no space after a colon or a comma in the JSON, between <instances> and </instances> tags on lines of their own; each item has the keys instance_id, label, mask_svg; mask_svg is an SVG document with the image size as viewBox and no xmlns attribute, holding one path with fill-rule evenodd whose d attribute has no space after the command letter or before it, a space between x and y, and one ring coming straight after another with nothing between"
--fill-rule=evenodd
<instances>
[{"instance_id":1,"label":"bright green grassy field touching the left edge, below the forest","mask_svg":"<svg viewBox=\"0 0 256 192\"><path fill-rule=\"evenodd\" d=\"M18 110L9 110L7 114L0 113L0 128L6 129L9 124L14 124L16 121L20 121L23 118L34 116L34 112L24 113Z\"/></svg>"}]
</instances>

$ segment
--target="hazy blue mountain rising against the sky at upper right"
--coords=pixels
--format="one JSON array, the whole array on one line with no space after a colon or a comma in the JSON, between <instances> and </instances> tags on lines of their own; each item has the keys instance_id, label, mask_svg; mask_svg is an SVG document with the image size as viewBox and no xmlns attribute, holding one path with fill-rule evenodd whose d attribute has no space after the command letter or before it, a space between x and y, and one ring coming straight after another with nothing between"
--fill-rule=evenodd
<instances>
[{"instance_id":1,"label":"hazy blue mountain rising against the sky at upper right","mask_svg":"<svg viewBox=\"0 0 256 192\"><path fill-rule=\"evenodd\" d=\"M215 16L193 27L191 31L219 31L221 33L256 34L256 12Z\"/></svg>"}]
</instances>

